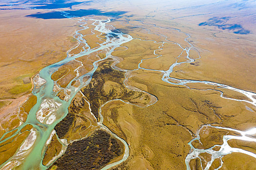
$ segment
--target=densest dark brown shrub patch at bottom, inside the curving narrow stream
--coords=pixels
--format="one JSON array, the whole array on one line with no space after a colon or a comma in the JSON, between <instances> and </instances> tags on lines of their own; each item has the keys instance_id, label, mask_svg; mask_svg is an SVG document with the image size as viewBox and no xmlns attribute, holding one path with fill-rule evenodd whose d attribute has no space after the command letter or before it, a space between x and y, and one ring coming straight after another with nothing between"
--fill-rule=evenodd
<instances>
[{"instance_id":1,"label":"densest dark brown shrub patch at bottom, inside the curving narrow stream","mask_svg":"<svg viewBox=\"0 0 256 170\"><path fill-rule=\"evenodd\" d=\"M50 170L98 170L122 155L124 146L103 130L71 143Z\"/></svg>"}]
</instances>

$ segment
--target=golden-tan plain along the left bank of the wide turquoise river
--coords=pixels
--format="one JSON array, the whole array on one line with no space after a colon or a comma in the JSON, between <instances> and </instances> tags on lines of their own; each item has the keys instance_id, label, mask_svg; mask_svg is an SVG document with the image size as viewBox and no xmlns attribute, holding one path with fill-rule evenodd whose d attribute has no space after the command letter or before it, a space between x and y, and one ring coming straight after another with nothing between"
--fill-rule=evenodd
<instances>
[{"instance_id":1,"label":"golden-tan plain along the left bank of the wide turquoise river","mask_svg":"<svg viewBox=\"0 0 256 170\"><path fill-rule=\"evenodd\" d=\"M77 44L72 38L77 29L75 21L25 17L34 12L0 10L0 136L24 122L37 102L37 97L30 95L33 76L65 58L66 51ZM0 144L0 164L17 152L30 129Z\"/></svg>"}]
</instances>

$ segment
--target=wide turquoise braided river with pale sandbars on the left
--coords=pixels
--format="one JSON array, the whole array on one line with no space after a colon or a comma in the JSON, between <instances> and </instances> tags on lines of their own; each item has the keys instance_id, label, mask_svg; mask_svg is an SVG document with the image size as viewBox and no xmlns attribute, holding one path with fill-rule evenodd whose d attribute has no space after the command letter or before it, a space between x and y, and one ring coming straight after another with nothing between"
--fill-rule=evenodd
<instances>
[{"instance_id":1,"label":"wide turquoise braided river with pale sandbars on the left","mask_svg":"<svg viewBox=\"0 0 256 170\"><path fill-rule=\"evenodd\" d=\"M65 15L67 16L67 14L65 14ZM83 21L85 21L85 20L82 20L82 19L78 19L78 20L82 24L81 26L83 27L83 29L86 29L87 27L83 26L85 24ZM39 72L40 80L43 81L44 84L36 86L37 82L34 82L35 88L33 90L33 94L36 95L38 98L37 103L30 110L26 121L20 127L17 128L18 129L17 133L18 133L19 130L22 129L25 125L31 124L31 125L33 125L34 129L36 130L36 134L37 134L36 140L31 141L31 142L34 142L34 144L33 144L32 148L30 148L30 150L31 150L30 153L25 156L24 160L21 161L21 165L20 165L21 170L37 170L37 169L45 170L48 168L48 167L42 165L42 160L43 160L45 149L46 149L45 144L46 144L47 140L49 139L49 137L51 136L51 133L54 130L54 127L56 126L56 124L59 123L59 121L61 121L67 115L68 107L69 107L72 99L75 97L75 95L79 92L79 90L82 87L89 84L89 82L91 80L91 76L98 68L97 63L99 61L102 61L102 60L110 57L111 52L114 51L115 48L119 47L121 44L123 44L125 42L132 40L132 37L130 35L123 36L123 34L121 34L121 33L115 33L118 35L118 38L110 38L110 36L111 36L110 34L112 33L112 31L110 31L109 29L107 29L105 27L106 23L108 23L108 22L110 22L109 19L108 20L95 20L95 22L93 23L96 26L95 29L97 31L107 34L106 42L100 44L100 47L98 49L88 49L86 51L81 51L79 54L74 55L72 57L67 57L64 60L59 61L58 63L55 63L53 65L50 65L50 66L47 66L47 67L41 69L41 71ZM83 30L83 29L81 29L81 30ZM86 43L82 39L83 35L78 33L79 31L80 30L78 30L75 33L74 37L77 37L76 39L79 42ZM75 87L71 86L70 85L71 83L70 83L66 87L66 89L70 90L70 92L71 92L68 100L67 101L60 100L59 97L56 96L57 93L53 91L55 83L51 79L52 73L54 71L56 71L61 65L68 63L69 61L72 61L72 60L74 60L78 57L84 56L84 55L88 55L92 52L101 51L101 50L106 51L106 58L99 59L98 61L95 61L93 63L94 68L87 74L77 75L77 77L74 78L73 80L80 81L80 86L78 88L75 88ZM70 56L70 55L68 54L68 56ZM90 79L84 83L82 80L83 80L83 77L85 77L85 76L90 76ZM34 81L39 81L39 80L34 79ZM40 120L40 118L37 118L37 115L39 115L39 112L42 112L42 109L44 107L49 107L50 109L52 109L50 114L55 115L55 120L53 122L50 122L50 123L48 122L49 116L47 116L44 119L41 118L41 120ZM17 133L15 133L15 134L17 134ZM14 135L12 135L12 136L14 136ZM113 135L113 133L112 133L112 135ZM8 137L8 138L10 138L10 137ZM124 143L125 141L122 141L122 142ZM126 148L128 148L127 144L126 143L124 143L124 144L125 144ZM126 149L126 151L127 150L128 149ZM126 158L127 158L127 156L126 156ZM7 160L5 162L5 164L9 161L12 161L12 158ZM18 160L18 161L20 161L20 160ZM4 164L2 166L4 166Z\"/></svg>"}]
</instances>

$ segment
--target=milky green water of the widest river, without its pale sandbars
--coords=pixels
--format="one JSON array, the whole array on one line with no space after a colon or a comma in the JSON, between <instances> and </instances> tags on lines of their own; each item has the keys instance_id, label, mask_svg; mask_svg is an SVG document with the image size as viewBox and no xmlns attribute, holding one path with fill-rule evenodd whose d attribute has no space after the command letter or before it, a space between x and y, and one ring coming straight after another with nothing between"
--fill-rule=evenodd
<instances>
[{"instance_id":1,"label":"milky green water of the widest river, without its pale sandbars","mask_svg":"<svg viewBox=\"0 0 256 170\"><path fill-rule=\"evenodd\" d=\"M110 21L110 20L109 20ZM109 22L107 21L107 22ZM111 33L110 30L104 28L106 23L101 23L102 21L96 21L98 22L98 26L101 25L101 27L99 28L98 31L101 31L105 34L109 34ZM78 33L78 32L76 32ZM120 40L122 39L122 40ZM112 47L112 50L110 50L109 52L107 52L106 57L108 57L110 55L110 53L119 45L121 45L124 42L128 42L130 41L132 38L130 36L128 36L128 38L122 38L122 34L119 34L119 40L118 42L115 42L115 40L109 40L109 44L108 43L104 43L103 45L101 45L100 48L98 48L97 50L88 50L85 52L81 52L78 55L75 55L73 57L69 57L66 58L56 64L53 64L51 66L48 66L46 68L43 68L39 75L42 79L46 80L45 85L42 85L40 87L40 90L38 93L36 93L35 95L38 97L38 102L37 104L33 107L33 109L31 110L31 112L29 113L29 117L27 119L27 123L33 124L34 127L36 127L36 129L38 130L38 134L37 134L37 140L33 146L33 150L31 151L31 153L27 156L24 164L22 165L22 170L32 170L35 169L39 166L39 169L44 170L47 167L42 165L42 159L44 156L44 152L45 152L45 143L48 140L49 136L52 133L52 130L54 129L54 127L56 126L56 124L63 119L67 113L68 113L68 107L72 101L72 99L74 98L74 96L79 92L80 88L82 88L84 85L87 85L89 83L89 81L87 81L85 84L81 84L79 86L79 88L75 89L73 88L71 85L68 85L67 88L71 89L71 95L70 98L68 100L68 102L59 100L58 97L56 97L56 93L53 92L53 87L54 87L54 81L51 79L51 74L56 71L60 65L63 65L65 63L68 63L71 60L74 60L80 56L83 55L88 55L92 52L95 51L100 51L102 49L106 49L108 47ZM101 60L98 60L101 61ZM93 70L91 70L91 72L85 74L85 75L81 75L79 77L76 77L79 80L82 80L82 78L84 76L92 76L93 73L96 71L96 69L98 68L97 63L98 61L94 62L93 66ZM75 78L75 79L76 79ZM72 81L71 81L72 82ZM80 81L80 83L82 83L82 81ZM46 124L39 124L39 121L36 119L36 113L38 112L40 105L43 103L43 101L45 99L51 99L53 102L58 102L61 105L58 107L58 109L56 109L56 112L58 116L60 116L59 119L56 119L54 121L54 123L50 124L50 125L46 125Z\"/></svg>"}]
</instances>

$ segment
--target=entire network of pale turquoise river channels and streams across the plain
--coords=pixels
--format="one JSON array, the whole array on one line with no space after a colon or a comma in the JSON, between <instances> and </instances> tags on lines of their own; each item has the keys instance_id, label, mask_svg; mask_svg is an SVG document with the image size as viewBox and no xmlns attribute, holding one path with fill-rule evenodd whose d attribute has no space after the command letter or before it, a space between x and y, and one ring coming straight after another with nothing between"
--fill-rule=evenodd
<instances>
[{"instance_id":1,"label":"entire network of pale turquoise river channels and streams across the plain","mask_svg":"<svg viewBox=\"0 0 256 170\"><path fill-rule=\"evenodd\" d=\"M70 18L70 19L76 19L73 18L74 16L69 16L68 13L62 12L62 15ZM86 24L86 19L85 18L81 18L81 19L77 19L79 23L81 23L81 30L87 29L87 26L84 26ZM91 19L93 20L93 19ZM93 25L96 26L95 30L99 31L103 34L106 34L106 42L103 42L100 44L100 47L98 48L94 48L91 49L90 46L86 43L86 41L82 38L84 35L79 34L78 30L75 32L74 34L74 38L77 39L77 41L79 42L79 44L83 43L85 46L83 47L83 50L76 55L72 55L70 52L75 49L76 47L79 46L79 44L70 49L67 52L67 58L65 58L62 61L59 61L53 65L47 66L45 68L43 68L39 74L37 76L35 76L35 78L33 79L33 83L34 83L34 90L33 90L33 94L37 96L37 103L36 105L30 110L27 120L20 125L18 128L18 131L16 133L14 133L12 136L4 139L1 142L4 142L6 140L8 140L9 138L15 136L16 134L18 134L18 132L20 131L20 129L22 129L25 125L27 124L31 124L33 125L33 129L31 131L31 134L28 136L27 140L22 144L22 146L20 147L19 151L13 156L11 157L9 160L7 160L4 164L1 165L0 168L2 168L3 166L8 165L10 162L15 162L17 165L19 165L21 162L19 162L20 159L24 159L24 162L22 162L22 167L21 169L24 170L33 170L35 168L38 168L40 170L45 170L48 167L43 166L42 165L42 159L44 156L44 152L45 152L45 144L47 142L49 142L49 139L51 138L52 134L53 134L53 130L54 127L56 126L57 123L59 123L59 121L61 121L63 118L65 118L65 116L68 113L68 107L72 101L72 99L75 97L75 95L80 91L80 89L86 85L88 85L91 81L91 77L94 74L94 72L96 71L96 69L98 68L98 63L102 60L105 60L106 58L113 58L115 60L115 57L111 55L111 53L115 50L115 48L120 47L121 44L126 43L131 41L133 38L131 35L129 34L123 34L121 32L115 31L113 32L113 29L110 30L109 26L107 26L106 24L110 22L110 19L107 20L93 20L94 23ZM179 30L177 30L179 31ZM179 31L180 32L180 31ZM113 36L113 34L116 34L116 37ZM186 34L186 33L184 33ZM170 77L170 74L173 72L173 68L175 68L176 66L183 64L183 63L191 63L194 62L195 59L190 58L189 53L191 49L195 49L195 47L193 46L193 44L191 44L188 39L190 38L189 34L186 34L187 37L184 39L185 42L187 42L190 47L187 48L183 48L180 44L175 43L177 46L179 46L182 49L182 52L180 53L179 56L177 56L177 60L175 63L173 63L170 68L166 71L166 70L155 70L155 69L148 69L148 68L142 68L140 67L140 65L143 63L144 60L150 60L152 58L148 58L148 59L142 59L140 61L140 63L138 64L138 69L145 69L145 70L152 70L152 71L158 71L160 73L163 74L162 76L162 81L169 83L169 84L174 84L174 85L185 85L187 88L189 88L188 85L189 83L201 83L201 84L205 84L205 85L211 85L211 86L218 86L224 89L229 89L229 90L233 90L236 92L239 92L245 96L248 97L248 100L238 100L238 99L232 99L232 98L227 98L227 97L223 97L223 93L220 95L222 98L228 99L228 100L236 100L239 102L247 102L250 104L253 104L256 106L256 93L253 92L249 92L249 91L245 91L245 90L241 90L232 86L228 86L228 85L223 85L223 84L218 84L218 83L214 83L214 82L209 82L209 81L194 81L194 80L182 80L182 79L177 79L177 78L173 78ZM155 42L157 43L157 42ZM159 48L157 50L154 51L154 54L156 55L156 57L153 58L158 58L161 57L161 55L156 54L156 51L161 50L161 47L163 47L164 43L167 42L161 42L159 43ZM86 50L87 48L87 50ZM82 63L80 62L81 66L79 66L79 68L75 69L76 72L76 78L74 78L72 81L74 80L78 80L80 82L80 86L79 87L74 87L71 85L71 82L69 83L69 85L67 85L66 88L61 88L60 86L58 86L56 84L56 82L54 82L51 79L51 75L53 72L55 72L60 66L62 66L65 63L68 63L72 60L75 60L76 58L79 58L81 56L84 55L88 55L91 54L95 51L101 51L104 50L106 51L106 57L103 59L99 59L98 61L95 61L93 63L93 69L84 74L84 75L79 75L79 68L82 65ZM187 61L184 62L178 62L178 58L181 56L181 54L185 52L187 54L186 58ZM200 55L198 53L198 58L200 58ZM77 60L76 60L77 61ZM78 61L79 62L79 61ZM119 69L116 66L112 66L114 69ZM138 70L135 69L135 70ZM123 70L126 71L127 74L126 75L126 80L129 78L129 73L133 70ZM90 77L88 81L86 81L85 83L83 82L83 78L84 77ZM124 85L128 88L132 88L129 87L129 85L127 85L126 80L124 80ZM59 99L59 97L56 96L56 92L54 92L54 88L60 88L62 90L64 90L65 94L68 96L66 100L62 101ZM139 89L137 89L139 90ZM209 90L213 90L210 89ZM68 92L70 92L70 95L68 95ZM152 96L152 98L154 98L154 100L152 100L152 102L148 105L154 104L155 102L157 102L157 98ZM120 100L122 101L122 100ZM88 101L86 101L88 102ZM111 101L108 101L111 102ZM106 103L108 103L106 102ZM124 102L124 101L122 101ZM106 103L104 103L101 107L103 107ZM126 102L128 103L128 102ZM131 103L129 103L131 104ZM119 163L123 162L124 160L126 160L128 158L129 155L129 147L127 145L127 143L121 139L120 137L118 137L116 134L114 134L113 132L111 132L106 126L104 126L102 124L103 122L103 116L101 115L101 107L99 109L99 117L100 120L98 121L98 125L100 126L100 128L105 129L107 132L109 132L112 136L116 137L118 140L120 140L124 146L125 146L125 153L123 158L115 163L112 163L110 165L107 165L106 167L104 167L102 170L107 170L115 165L118 165ZM49 108L50 113L47 115L47 117L42 117L42 113L44 111L45 108ZM211 126L211 125L204 125L204 126ZM202 126L202 127L204 127ZM201 127L201 128L202 128ZM203 153L203 152L207 152L212 154L212 160L211 162L208 163L206 170L211 166L212 162L214 161L214 159L221 157L223 155L232 153L232 152L239 152L239 153L245 153L248 155L251 155L253 157L256 157L256 154L254 153L250 153L241 149L237 149L237 148L231 148L228 144L227 141L229 139L242 139L242 140L247 140L247 141L254 141L256 142L256 139L251 138L246 136L247 134L255 134L256 133L256 128L252 129L250 131L246 131L246 132L242 132L242 131L238 131L235 129L231 129L231 128L223 128L223 127L217 127L214 126L214 128L219 128L219 129L226 129L226 130L232 130L232 131L236 131L238 133L240 133L242 136L223 136L223 145L221 145L221 149L219 151L214 151L212 150L212 148L207 149L207 150L199 150L196 149L192 146L192 142L196 139L200 139L199 138L199 132L201 130L201 128L197 131L197 137L194 138L192 141L189 142L189 145L191 146L191 153L189 153L186 157L186 165L187 165L187 170L190 170L189 167L189 161L191 159L194 159L196 157L198 157L199 153ZM15 129L14 129L15 130ZM30 140L29 140L30 139ZM32 142L34 141L34 142ZM0 143L1 143L0 142ZM63 142L64 145L65 142ZM27 153L29 153L27 155ZM6 165L5 165L6 164Z\"/></svg>"}]
</instances>

